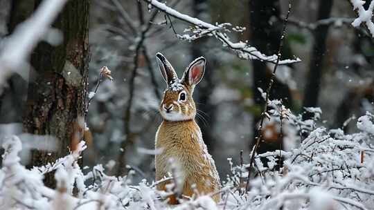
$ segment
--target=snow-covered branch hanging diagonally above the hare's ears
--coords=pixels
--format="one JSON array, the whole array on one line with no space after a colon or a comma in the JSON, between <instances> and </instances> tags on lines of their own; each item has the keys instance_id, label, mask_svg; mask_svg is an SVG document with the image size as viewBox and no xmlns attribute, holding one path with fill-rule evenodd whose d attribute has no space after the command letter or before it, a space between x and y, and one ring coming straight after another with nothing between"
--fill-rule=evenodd
<instances>
[{"instance_id":1,"label":"snow-covered branch hanging diagonally above the hare's ears","mask_svg":"<svg viewBox=\"0 0 374 210\"><path fill-rule=\"evenodd\" d=\"M171 17L175 17L176 19L179 19L181 21L185 21L187 23L190 23L193 25L193 29L188 29L185 32L191 32L192 35L184 34L184 35L177 35L180 39L184 39L187 41L192 41L194 39L198 39L199 37L204 36L211 36L215 39L218 39L222 42L222 46L230 48L231 50L234 50L235 53L237 53L238 57L241 59L259 59L261 61L270 62L273 64L276 64L276 60L278 59L277 55L265 55L258 51L253 46L250 46L248 41L239 41L239 42L233 42L230 41L230 38L226 35L225 32L231 32L233 31L242 31L243 28L240 27L231 27L230 23L221 23L213 25L211 23L206 23L200 19L190 17L188 15L182 14L181 12L178 12L177 10L174 10L168 6L166 6L164 3L161 3L157 0L143 0L152 7L157 8L157 10L160 10L164 12L166 15L170 15ZM279 64L292 64L301 61L299 58L294 59L285 59L279 61Z\"/></svg>"}]
</instances>

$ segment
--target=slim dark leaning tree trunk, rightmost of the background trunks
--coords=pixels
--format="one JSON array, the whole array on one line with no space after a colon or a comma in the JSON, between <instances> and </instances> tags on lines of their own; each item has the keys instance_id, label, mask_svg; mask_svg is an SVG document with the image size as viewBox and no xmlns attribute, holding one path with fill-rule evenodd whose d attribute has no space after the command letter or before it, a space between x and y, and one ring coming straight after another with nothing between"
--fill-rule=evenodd
<instances>
[{"instance_id":1,"label":"slim dark leaning tree trunk, rightmost of the background trunks","mask_svg":"<svg viewBox=\"0 0 374 210\"><path fill-rule=\"evenodd\" d=\"M330 17L331 8L332 0L320 0L317 20L328 19L328 17ZM314 107L318 105L328 27L328 25L321 25L314 30L314 46L312 48L309 74L304 91L303 107ZM304 119L309 119L310 117L312 117L312 113L305 113L305 115L303 115Z\"/></svg>"}]
</instances>

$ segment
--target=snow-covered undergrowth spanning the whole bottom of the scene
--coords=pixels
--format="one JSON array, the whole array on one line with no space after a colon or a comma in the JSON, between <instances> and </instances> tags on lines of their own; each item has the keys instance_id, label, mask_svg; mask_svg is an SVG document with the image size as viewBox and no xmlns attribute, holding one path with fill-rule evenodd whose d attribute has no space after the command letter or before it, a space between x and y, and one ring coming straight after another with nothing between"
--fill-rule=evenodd
<instances>
[{"instance_id":1,"label":"snow-covered undergrowth spanning the whole bottom of the scene","mask_svg":"<svg viewBox=\"0 0 374 210\"><path fill-rule=\"evenodd\" d=\"M318 126L319 108L306 109L314 113L314 120L302 120L281 101L273 100L269 107L268 122L277 125L289 146L256 154L249 184L249 164L232 166L229 159L231 174L217 192L222 195L218 204L211 195L200 195L168 205L166 198L173 192L156 187L172 182L172 177L134 183L132 171L124 177L108 175L111 164L83 173L77 160L84 142L55 163L28 170L19 163L21 142L13 136L3 144L0 209L373 209L374 115L359 117L359 132L346 134L340 128ZM57 189L42 182L51 171Z\"/></svg>"}]
</instances>

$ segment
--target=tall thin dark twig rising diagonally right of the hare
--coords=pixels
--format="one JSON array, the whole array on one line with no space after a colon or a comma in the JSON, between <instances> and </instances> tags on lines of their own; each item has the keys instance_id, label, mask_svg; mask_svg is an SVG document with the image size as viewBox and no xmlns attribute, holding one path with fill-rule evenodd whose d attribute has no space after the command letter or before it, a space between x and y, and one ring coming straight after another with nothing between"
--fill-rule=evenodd
<instances>
[{"instance_id":1,"label":"tall thin dark twig rising diagonally right of the hare","mask_svg":"<svg viewBox=\"0 0 374 210\"><path fill-rule=\"evenodd\" d=\"M271 90L271 86L273 85L274 83L274 78L276 77L276 68L278 67L278 64L279 64L279 60L281 59L281 51L282 51L282 48L283 48L283 39L285 38L285 33L286 33L286 26L287 26L287 21L288 21L288 17L290 16L290 12L291 12L291 1L289 1L289 4L288 4L288 10L287 10L287 16L285 17L285 21L283 23L283 29L282 29L282 34L281 34L281 41L280 41L280 44L279 44L279 48L278 48L278 53L277 53L277 59L276 59L276 64L274 66L274 69L273 69L273 73L271 74L271 78L270 78L270 82L269 82L269 86L267 87L267 90L266 90L266 98L265 98L265 106L264 106L264 111L262 112L261 114L261 121L260 121L260 128L258 128L258 137L257 137L257 140L256 140L256 144L253 148L253 151L251 153L251 161L249 162L249 171L248 171L248 177L247 177L247 184L246 184L246 187L245 187L245 192L247 193L248 191L248 186L249 186L249 178L250 178L250 175L251 175L251 168L253 166L253 162L254 162L254 157L255 157L255 154L258 150L258 146L260 145L260 141L262 139L262 129L263 129L263 125L264 125L264 119L265 119L265 113L267 113L267 108L268 108L268 103L269 103L269 93L270 93L270 90Z\"/></svg>"}]
</instances>

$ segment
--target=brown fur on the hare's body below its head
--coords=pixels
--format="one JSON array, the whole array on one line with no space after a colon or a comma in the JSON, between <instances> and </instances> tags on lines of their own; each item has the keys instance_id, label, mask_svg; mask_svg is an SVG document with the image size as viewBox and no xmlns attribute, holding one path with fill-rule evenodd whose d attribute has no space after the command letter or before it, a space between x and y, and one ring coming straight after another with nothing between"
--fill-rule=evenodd
<instances>
[{"instance_id":1,"label":"brown fur on the hare's body below its head","mask_svg":"<svg viewBox=\"0 0 374 210\"><path fill-rule=\"evenodd\" d=\"M156 155L156 180L168 174L168 160L175 158L186 176L182 193L187 196L193 195L192 184L196 184L197 192L201 194L220 189L220 180L213 175L217 173L214 162L206 157L206 146L199 142L198 133L201 131L195 120L163 121L157 132L156 148L162 149L162 152ZM159 189L165 189L165 184L160 184ZM220 195L215 195L213 199L218 202Z\"/></svg>"}]
</instances>

